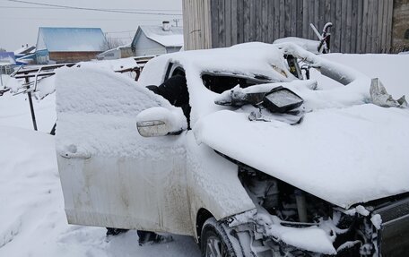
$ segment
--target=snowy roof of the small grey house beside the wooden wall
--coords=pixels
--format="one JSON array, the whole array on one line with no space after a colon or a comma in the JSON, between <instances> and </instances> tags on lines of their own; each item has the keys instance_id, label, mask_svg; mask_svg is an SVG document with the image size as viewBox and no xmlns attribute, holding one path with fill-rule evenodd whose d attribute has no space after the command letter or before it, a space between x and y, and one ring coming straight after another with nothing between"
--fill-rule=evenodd
<instances>
[{"instance_id":1,"label":"snowy roof of the small grey house beside the wooden wall","mask_svg":"<svg viewBox=\"0 0 409 257\"><path fill-rule=\"evenodd\" d=\"M151 39L163 47L183 47L183 28L170 27L170 30L163 30L162 26L143 25L139 26L139 30L144 32L146 38Z\"/></svg>"}]
</instances>

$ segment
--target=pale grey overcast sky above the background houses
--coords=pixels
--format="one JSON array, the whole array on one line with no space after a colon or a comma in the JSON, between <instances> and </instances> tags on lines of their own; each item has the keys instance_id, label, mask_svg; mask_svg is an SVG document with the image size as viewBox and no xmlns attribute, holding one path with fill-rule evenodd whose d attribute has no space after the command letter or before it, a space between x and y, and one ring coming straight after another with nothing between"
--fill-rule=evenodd
<instances>
[{"instance_id":1,"label":"pale grey overcast sky above the background houses","mask_svg":"<svg viewBox=\"0 0 409 257\"><path fill-rule=\"evenodd\" d=\"M0 47L13 51L22 44L35 45L39 27L97 27L109 37L128 43L135 35L138 25L161 24L182 16L182 0L27 0L38 4L57 4L74 7L109 9L134 13L105 13L62 9L28 3L0 0ZM139 14L142 13L171 13Z\"/></svg>"}]
</instances>

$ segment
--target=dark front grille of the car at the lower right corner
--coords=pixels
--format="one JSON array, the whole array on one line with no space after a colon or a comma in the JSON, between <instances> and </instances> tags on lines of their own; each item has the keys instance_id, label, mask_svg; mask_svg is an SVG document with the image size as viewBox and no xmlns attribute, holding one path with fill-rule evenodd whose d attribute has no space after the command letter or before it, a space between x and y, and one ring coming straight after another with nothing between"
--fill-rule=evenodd
<instances>
[{"instance_id":1,"label":"dark front grille of the car at the lower right corner","mask_svg":"<svg viewBox=\"0 0 409 257\"><path fill-rule=\"evenodd\" d=\"M409 198L375 210L382 218L379 231L379 250L382 257L409 254Z\"/></svg>"}]
</instances>

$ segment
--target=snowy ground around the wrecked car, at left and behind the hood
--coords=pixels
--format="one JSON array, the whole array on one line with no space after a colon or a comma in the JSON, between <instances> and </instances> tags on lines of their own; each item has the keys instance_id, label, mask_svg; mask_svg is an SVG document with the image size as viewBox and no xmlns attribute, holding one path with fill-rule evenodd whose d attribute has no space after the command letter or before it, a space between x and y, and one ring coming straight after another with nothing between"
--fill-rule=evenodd
<instances>
[{"instance_id":1,"label":"snowy ground around the wrecked car, at left and behind the hood","mask_svg":"<svg viewBox=\"0 0 409 257\"><path fill-rule=\"evenodd\" d=\"M409 96L409 55L326 57L379 77L394 98ZM36 133L26 96L0 97L0 256L199 256L187 236L140 247L135 231L107 240L104 228L66 223L54 138L47 134L56 120L54 101L54 95L34 100Z\"/></svg>"}]
</instances>

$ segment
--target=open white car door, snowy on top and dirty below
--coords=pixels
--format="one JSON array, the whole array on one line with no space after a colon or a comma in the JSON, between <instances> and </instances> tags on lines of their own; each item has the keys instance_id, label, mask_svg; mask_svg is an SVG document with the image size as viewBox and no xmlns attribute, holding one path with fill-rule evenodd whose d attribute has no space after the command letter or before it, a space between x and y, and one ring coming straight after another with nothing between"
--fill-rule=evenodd
<instances>
[{"instance_id":1,"label":"open white car door, snowy on top and dirty below","mask_svg":"<svg viewBox=\"0 0 409 257\"><path fill-rule=\"evenodd\" d=\"M170 103L97 69L61 69L56 84L68 222L191 234L184 135L144 138L136 130L138 113Z\"/></svg>"}]
</instances>

